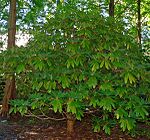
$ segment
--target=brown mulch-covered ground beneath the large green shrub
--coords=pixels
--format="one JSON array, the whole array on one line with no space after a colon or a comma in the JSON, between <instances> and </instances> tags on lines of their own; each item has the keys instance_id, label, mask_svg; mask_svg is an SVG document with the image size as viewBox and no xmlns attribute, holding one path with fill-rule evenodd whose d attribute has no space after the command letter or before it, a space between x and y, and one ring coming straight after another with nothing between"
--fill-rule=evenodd
<instances>
[{"instance_id":1,"label":"brown mulch-covered ground beneath the large green shrub","mask_svg":"<svg viewBox=\"0 0 150 140\"><path fill-rule=\"evenodd\" d=\"M36 122L35 122L36 121ZM34 125L33 125L34 123ZM150 127L140 126L150 133ZM144 131L143 131L143 135ZM37 120L22 119L19 122L0 122L0 140L66 140L66 121L61 122L41 122ZM147 136L131 137L120 132L116 127L110 136L104 133L94 133L89 119L76 122L75 137L70 140L149 140Z\"/></svg>"}]
</instances>

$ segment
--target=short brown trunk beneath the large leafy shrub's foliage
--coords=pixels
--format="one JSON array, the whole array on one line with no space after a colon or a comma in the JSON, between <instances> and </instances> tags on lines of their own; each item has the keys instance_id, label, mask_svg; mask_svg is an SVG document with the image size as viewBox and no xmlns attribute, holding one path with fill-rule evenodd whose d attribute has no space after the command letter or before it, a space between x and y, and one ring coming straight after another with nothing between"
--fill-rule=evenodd
<instances>
[{"instance_id":1,"label":"short brown trunk beneath the large leafy shrub's foliage","mask_svg":"<svg viewBox=\"0 0 150 140\"><path fill-rule=\"evenodd\" d=\"M71 114L67 114L67 138L73 138L74 134L75 118Z\"/></svg>"}]
</instances>

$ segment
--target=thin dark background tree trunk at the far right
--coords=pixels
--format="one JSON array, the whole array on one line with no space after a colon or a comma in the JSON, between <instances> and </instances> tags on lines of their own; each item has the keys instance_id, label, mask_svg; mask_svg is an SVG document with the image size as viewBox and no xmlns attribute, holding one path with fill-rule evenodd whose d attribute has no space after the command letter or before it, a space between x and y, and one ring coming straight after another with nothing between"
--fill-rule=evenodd
<instances>
[{"instance_id":1,"label":"thin dark background tree trunk at the far right","mask_svg":"<svg viewBox=\"0 0 150 140\"><path fill-rule=\"evenodd\" d=\"M141 46L141 0L137 1L137 12L138 12L138 23L137 23L137 29L138 29L138 43Z\"/></svg>"}]
</instances>

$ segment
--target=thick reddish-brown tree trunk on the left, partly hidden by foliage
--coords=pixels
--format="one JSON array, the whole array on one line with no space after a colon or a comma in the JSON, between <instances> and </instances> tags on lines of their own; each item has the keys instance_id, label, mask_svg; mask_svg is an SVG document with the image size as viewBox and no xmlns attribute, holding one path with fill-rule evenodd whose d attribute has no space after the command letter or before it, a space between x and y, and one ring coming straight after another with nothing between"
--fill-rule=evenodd
<instances>
[{"instance_id":1,"label":"thick reddish-brown tree trunk on the left, partly hidden by foliage","mask_svg":"<svg viewBox=\"0 0 150 140\"><path fill-rule=\"evenodd\" d=\"M10 0L9 21L8 21L8 43L7 49L15 46L16 35L16 0ZM2 116L7 116L9 111L9 101L16 97L15 76L10 74L10 78L6 80L4 89L4 97L2 102Z\"/></svg>"}]
</instances>

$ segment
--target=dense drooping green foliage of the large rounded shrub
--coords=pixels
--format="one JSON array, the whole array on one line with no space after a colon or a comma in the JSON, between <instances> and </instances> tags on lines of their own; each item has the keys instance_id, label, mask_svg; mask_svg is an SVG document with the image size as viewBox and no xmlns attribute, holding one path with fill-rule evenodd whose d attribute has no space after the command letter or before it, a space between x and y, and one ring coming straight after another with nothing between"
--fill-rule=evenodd
<instances>
[{"instance_id":1,"label":"dense drooping green foliage of the large rounded shrub","mask_svg":"<svg viewBox=\"0 0 150 140\"><path fill-rule=\"evenodd\" d=\"M110 134L116 124L130 131L148 116L149 63L124 22L100 15L97 5L78 5L59 5L27 47L0 54L1 72L16 75L10 113L52 109L81 120L98 110L95 132Z\"/></svg>"}]
</instances>

